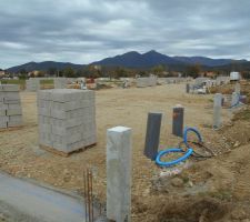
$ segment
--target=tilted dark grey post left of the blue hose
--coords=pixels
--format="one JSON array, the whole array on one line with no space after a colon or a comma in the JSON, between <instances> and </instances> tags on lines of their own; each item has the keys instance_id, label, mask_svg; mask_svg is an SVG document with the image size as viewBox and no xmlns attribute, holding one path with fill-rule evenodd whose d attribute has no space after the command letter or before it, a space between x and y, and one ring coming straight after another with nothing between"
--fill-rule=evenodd
<instances>
[{"instance_id":1,"label":"tilted dark grey post left of the blue hose","mask_svg":"<svg viewBox=\"0 0 250 222\"><path fill-rule=\"evenodd\" d=\"M162 113L159 112L150 112L148 114L144 155L150 160L156 160L158 154L161 117Z\"/></svg>"}]
</instances>

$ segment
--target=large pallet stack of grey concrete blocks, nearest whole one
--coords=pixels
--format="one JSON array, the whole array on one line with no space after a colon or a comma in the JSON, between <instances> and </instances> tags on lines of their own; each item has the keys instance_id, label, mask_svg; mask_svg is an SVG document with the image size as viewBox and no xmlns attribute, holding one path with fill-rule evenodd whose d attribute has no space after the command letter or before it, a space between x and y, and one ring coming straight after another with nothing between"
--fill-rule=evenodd
<instances>
[{"instance_id":1,"label":"large pallet stack of grey concrete blocks, nearest whole one","mask_svg":"<svg viewBox=\"0 0 250 222\"><path fill-rule=\"evenodd\" d=\"M40 145L70 153L97 142L93 91L41 90L38 114Z\"/></svg>"}]
</instances>

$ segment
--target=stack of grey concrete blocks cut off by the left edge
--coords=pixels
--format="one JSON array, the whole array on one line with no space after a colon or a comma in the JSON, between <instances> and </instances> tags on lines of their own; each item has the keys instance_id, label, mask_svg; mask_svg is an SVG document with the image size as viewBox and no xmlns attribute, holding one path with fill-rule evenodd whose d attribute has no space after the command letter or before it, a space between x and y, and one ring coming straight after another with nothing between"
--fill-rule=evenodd
<instances>
[{"instance_id":1,"label":"stack of grey concrete blocks cut off by the left edge","mask_svg":"<svg viewBox=\"0 0 250 222\"><path fill-rule=\"evenodd\" d=\"M0 128L22 124L22 109L18 84L0 85Z\"/></svg>"}]
</instances>

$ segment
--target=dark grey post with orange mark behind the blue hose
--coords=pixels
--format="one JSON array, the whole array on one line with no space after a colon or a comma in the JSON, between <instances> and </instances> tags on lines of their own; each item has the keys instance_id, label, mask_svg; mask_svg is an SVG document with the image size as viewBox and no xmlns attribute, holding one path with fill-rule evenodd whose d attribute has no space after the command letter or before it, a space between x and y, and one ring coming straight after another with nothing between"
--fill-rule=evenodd
<instances>
[{"instance_id":1,"label":"dark grey post with orange mark behind the blue hose","mask_svg":"<svg viewBox=\"0 0 250 222\"><path fill-rule=\"evenodd\" d=\"M177 104L172 114L172 134L177 137L183 135L184 108Z\"/></svg>"}]
</instances>

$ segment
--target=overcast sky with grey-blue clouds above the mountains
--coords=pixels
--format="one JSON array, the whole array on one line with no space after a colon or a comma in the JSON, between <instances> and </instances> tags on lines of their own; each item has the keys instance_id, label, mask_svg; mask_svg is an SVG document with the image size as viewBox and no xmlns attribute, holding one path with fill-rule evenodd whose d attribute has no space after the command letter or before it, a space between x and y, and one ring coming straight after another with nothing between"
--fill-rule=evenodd
<instances>
[{"instance_id":1,"label":"overcast sky with grey-blue clouds above the mountains","mask_svg":"<svg viewBox=\"0 0 250 222\"><path fill-rule=\"evenodd\" d=\"M0 0L0 68L152 49L250 59L250 1Z\"/></svg>"}]
</instances>

